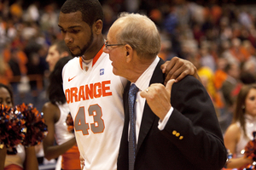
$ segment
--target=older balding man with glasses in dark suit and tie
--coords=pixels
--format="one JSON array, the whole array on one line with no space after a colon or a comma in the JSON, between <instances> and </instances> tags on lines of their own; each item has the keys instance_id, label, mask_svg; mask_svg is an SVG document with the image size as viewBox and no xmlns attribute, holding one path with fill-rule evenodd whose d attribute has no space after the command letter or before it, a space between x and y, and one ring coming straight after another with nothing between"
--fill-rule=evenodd
<instances>
[{"instance_id":1,"label":"older balding man with glasses in dark suit and tie","mask_svg":"<svg viewBox=\"0 0 256 170\"><path fill-rule=\"evenodd\" d=\"M227 154L212 100L195 77L162 84L160 34L154 22L141 14L120 14L107 39L103 50L113 61L113 73L130 81L118 169L221 169ZM133 107L129 90L134 85Z\"/></svg>"}]
</instances>

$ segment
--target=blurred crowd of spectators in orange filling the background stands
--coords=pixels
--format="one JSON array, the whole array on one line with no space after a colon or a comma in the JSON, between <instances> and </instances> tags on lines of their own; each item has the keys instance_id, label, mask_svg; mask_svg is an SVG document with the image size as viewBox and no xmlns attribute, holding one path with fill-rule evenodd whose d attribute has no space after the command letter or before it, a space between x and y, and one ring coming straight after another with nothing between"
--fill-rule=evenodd
<instances>
[{"instance_id":1,"label":"blurred crowd of spectators in orange filling the background stands","mask_svg":"<svg viewBox=\"0 0 256 170\"><path fill-rule=\"evenodd\" d=\"M212 97L223 133L230 125L242 84L256 82L256 11L253 4L186 0L105 0L102 33L119 12L147 14L159 27L159 56L189 59ZM17 0L0 2L0 82L10 84L15 104L32 103L41 111L46 100L49 46L61 39L60 5L39 1L24 8ZM195 94L196 95L196 94Z\"/></svg>"}]
</instances>

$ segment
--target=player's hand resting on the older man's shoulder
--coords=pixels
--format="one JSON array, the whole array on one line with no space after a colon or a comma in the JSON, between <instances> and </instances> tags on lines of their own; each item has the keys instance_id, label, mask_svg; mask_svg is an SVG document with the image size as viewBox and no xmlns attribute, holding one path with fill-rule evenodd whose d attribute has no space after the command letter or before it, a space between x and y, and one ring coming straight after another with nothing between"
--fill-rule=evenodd
<instances>
[{"instance_id":1,"label":"player's hand resting on the older man's shoulder","mask_svg":"<svg viewBox=\"0 0 256 170\"><path fill-rule=\"evenodd\" d=\"M187 59L173 57L170 61L166 61L165 64L161 65L161 69L163 73L166 73L165 84L171 79L175 79L175 81L178 82L187 75L192 75L201 82L195 65Z\"/></svg>"}]
</instances>

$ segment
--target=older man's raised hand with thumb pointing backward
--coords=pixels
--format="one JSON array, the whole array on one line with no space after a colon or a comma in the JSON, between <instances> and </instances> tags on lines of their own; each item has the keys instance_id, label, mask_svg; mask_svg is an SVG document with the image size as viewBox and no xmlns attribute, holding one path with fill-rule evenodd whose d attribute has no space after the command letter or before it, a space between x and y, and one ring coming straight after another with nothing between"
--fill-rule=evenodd
<instances>
[{"instance_id":1,"label":"older man's raised hand with thumb pointing backward","mask_svg":"<svg viewBox=\"0 0 256 170\"><path fill-rule=\"evenodd\" d=\"M151 84L150 87L141 92L141 96L146 98L150 109L156 116L163 120L170 111L171 105L171 91L174 79L169 80L166 83L166 87L160 83Z\"/></svg>"}]
</instances>

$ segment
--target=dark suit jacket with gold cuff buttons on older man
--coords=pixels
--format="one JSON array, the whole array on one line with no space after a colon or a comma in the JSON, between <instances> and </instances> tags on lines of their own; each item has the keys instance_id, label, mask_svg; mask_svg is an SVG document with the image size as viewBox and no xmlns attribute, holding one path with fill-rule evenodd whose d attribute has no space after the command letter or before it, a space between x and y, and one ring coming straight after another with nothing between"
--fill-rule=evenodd
<instances>
[{"instance_id":1,"label":"dark suit jacket with gold cuff buttons on older man","mask_svg":"<svg viewBox=\"0 0 256 170\"><path fill-rule=\"evenodd\" d=\"M150 81L164 82L160 62ZM125 126L121 138L118 169L128 169L128 83L124 94ZM226 161L226 149L212 100L195 77L187 76L172 86L174 108L166 127L160 131L159 117L147 102L137 142L135 170L221 169Z\"/></svg>"}]
</instances>

